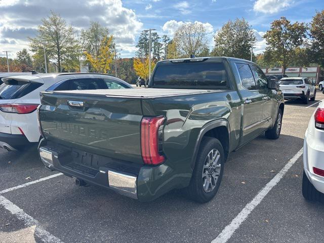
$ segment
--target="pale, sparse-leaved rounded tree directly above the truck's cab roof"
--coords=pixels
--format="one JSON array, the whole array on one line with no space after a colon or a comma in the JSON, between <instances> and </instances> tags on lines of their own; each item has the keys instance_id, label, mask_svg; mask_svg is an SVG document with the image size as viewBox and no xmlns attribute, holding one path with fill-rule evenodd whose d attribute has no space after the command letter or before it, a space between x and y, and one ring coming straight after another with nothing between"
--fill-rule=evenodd
<instances>
[{"instance_id":1,"label":"pale, sparse-leaved rounded tree directly above the truck's cab roof","mask_svg":"<svg viewBox=\"0 0 324 243\"><path fill-rule=\"evenodd\" d=\"M180 57L201 56L208 49L206 28L200 23L186 23L174 34L173 43Z\"/></svg>"}]
</instances>

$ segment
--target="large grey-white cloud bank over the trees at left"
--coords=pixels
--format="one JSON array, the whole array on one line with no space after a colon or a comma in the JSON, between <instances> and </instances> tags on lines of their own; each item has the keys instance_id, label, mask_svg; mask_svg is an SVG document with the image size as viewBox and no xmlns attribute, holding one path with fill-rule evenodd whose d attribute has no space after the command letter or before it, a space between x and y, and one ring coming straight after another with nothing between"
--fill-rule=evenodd
<instances>
[{"instance_id":1,"label":"large grey-white cloud bank over the trees at left","mask_svg":"<svg viewBox=\"0 0 324 243\"><path fill-rule=\"evenodd\" d=\"M7 40L0 46L12 51L13 56L22 48L28 49L27 37L35 36L37 25L50 15L51 10L77 30L88 28L90 20L98 21L114 35L117 48L130 53L135 48L135 36L143 27L135 11L125 8L121 0L70 0L62 5L58 5L56 0L0 0L0 39Z\"/></svg>"}]
</instances>

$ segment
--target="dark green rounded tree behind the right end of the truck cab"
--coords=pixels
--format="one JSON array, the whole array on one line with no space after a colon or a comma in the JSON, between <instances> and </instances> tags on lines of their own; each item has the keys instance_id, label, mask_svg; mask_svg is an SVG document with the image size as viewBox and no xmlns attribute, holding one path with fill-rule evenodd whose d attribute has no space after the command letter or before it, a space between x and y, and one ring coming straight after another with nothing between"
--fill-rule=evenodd
<instances>
[{"instance_id":1,"label":"dark green rounded tree behind the right end of the truck cab","mask_svg":"<svg viewBox=\"0 0 324 243\"><path fill-rule=\"evenodd\" d=\"M251 49L256 42L254 31L245 19L228 21L214 37L214 56L251 58Z\"/></svg>"}]
</instances>

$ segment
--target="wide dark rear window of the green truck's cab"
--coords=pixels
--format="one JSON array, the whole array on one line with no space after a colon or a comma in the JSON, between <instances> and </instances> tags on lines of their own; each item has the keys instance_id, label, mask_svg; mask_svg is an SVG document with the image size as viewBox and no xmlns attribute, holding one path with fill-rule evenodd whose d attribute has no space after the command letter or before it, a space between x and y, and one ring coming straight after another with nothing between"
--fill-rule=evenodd
<instances>
[{"instance_id":1,"label":"wide dark rear window of the green truck's cab","mask_svg":"<svg viewBox=\"0 0 324 243\"><path fill-rule=\"evenodd\" d=\"M177 63L158 66L153 87L227 88L228 77L223 63Z\"/></svg>"}]
</instances>

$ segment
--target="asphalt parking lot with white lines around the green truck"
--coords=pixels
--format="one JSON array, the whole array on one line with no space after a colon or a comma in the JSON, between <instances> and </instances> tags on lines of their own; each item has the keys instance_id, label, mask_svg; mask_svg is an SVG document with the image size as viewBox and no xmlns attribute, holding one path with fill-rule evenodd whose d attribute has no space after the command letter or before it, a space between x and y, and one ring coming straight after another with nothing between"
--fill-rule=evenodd
<instances>
[{"instance_id":1,"label":"asphalt parking lot with white lines around the green truck","mask_svg":"<svg viewBox=\"0 0 324 243\"><path fill-rule=\"evenodd\" d=\"M77 187L47 171L34 148L1 150L0 242L321 242L324 205L301 194L300 151L321 99L318 92L308 105L286 102L280 138L261 135L231 153L216 197L204 205L181 191L140 203Z\"/></svg>"}]
</instances>

